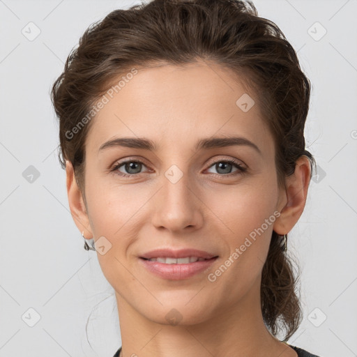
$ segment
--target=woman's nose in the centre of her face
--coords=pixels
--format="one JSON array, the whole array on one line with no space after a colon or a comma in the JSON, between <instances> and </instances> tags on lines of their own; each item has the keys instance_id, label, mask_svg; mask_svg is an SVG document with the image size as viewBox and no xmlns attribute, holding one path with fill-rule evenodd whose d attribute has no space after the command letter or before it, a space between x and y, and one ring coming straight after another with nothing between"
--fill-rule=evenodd
<instances>
[{"instance_id":1,"label":"woman's nose in the centre of her face","mask_svg":"<svg viewBox=\"0 0 357 357\"><path fill-rule=\"evenodd\" d=\"M183 174L176 183L163 175L160 183L153 202L153 225L176 234L202 227L204 204L199 199L199 190L190 187L188 175Z\"/></svg>"}]
</instances>

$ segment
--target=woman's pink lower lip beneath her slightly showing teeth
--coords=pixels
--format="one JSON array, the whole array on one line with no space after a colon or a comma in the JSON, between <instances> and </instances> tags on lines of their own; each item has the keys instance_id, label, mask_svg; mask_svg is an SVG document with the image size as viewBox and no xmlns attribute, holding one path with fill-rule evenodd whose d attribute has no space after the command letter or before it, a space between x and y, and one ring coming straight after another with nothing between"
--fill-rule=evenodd
<instances>
[{"instance_id":1,"label":"woman's pink lower lip beneath her slightly showing teeth","mask_svg":"<svg viewBox=\"0 0 357 357\"><path fill-rule=\"evenodd\" d=\"M148 271L158 275L160 278L182 280L206 271L217 259L218 257L215 257L188 264L165 264L158 263L158 261L149 261L143 258L140 258L139 261L141 261L141 264L143 264Z\"/></svg>"}]
</instances>

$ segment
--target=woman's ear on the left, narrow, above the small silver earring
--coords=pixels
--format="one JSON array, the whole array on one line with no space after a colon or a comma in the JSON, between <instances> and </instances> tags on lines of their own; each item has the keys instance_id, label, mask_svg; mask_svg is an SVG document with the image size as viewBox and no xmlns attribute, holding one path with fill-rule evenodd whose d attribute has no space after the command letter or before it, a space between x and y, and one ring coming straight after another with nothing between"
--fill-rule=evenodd
<instances>
[{"instance_id":1,"label":"woman's ear on the left, narrow, above the small silver earring","mask_svg":"<svg viewBox=\"0 0 357 357\"><path fill-rule=\"evenodd\" d=\"M89 217L86 212L86 206L82 197L82 192L79 190L75 179L75 171L70 161L66 160L66 184L68 203L70 206L70 214L72 215L75 225L79 231L84 231L84 237L93 238L91 226L89 225Z\"/></svg>"}]
</instances>

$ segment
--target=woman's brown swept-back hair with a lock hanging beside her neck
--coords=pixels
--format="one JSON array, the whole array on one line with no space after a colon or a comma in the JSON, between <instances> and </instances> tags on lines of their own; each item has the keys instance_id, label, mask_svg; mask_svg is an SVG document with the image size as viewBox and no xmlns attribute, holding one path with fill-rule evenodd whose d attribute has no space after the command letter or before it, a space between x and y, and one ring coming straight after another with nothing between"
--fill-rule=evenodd
<instances>
[{"instance_id":1,"label":"woman's brown swept-back hair with a lock hanging beside her neck","mask_svg":"<svg viewBox=\"0 0 357 357\"><path fill-rule=\"evenodd\" d=\"M285 177L294 173L301 155L309 158L311 167L316 166L305 150L304 138L310 81L279 27L258 17L250 1L153 0L128 10L114 10L92 24L52 87L52 102L60 122L59 160L63 168L65 160L72 163L83 194L85 140L93 122L88 117L93 103L114 79L132 72L132 68L159 63L181 66L197 59L228 68L255 89L275 140L280 187ZM79 126L85 117L85 125ZM286 341L298 329L302 317L297 278L291 259L282 250L282 241L273 231L261 275L261 311L273 335L286 330Z\"/></svg>"}]
</instances>

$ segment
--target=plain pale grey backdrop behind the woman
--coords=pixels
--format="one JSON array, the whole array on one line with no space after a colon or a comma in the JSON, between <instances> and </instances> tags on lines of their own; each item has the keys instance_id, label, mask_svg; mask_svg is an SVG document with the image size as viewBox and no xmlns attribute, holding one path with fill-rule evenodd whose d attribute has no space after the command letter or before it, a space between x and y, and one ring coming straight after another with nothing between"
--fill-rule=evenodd
<instances>
[{"instance_id":1,"label":"plain pale grey backdrop behind the woman","mask_svg":"<svg viewBox=\"0 0 357 357\"><path fill-rule=\"evenodd\" d=\"M0 356L110 357L121 346L114 291L68 208L49 93L84 30L135 3L0 0ZM289 343L357 356L357 1L254 3L312 82L305 137L319 169L289 233L304 309Z\"/></svg>"}]
</instances>

